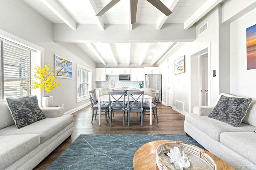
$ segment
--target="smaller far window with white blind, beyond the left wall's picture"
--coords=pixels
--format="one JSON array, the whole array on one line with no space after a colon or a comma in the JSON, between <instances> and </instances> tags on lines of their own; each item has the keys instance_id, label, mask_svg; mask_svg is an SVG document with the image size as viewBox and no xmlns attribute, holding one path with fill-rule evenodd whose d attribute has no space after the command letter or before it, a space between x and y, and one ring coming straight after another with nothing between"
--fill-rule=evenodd
<instances>
[{"instance_id":1,"label":"smaller far window with white blind, beyond the left wall's picture","mask_svg":"<svg viewBox=\"0 0 256 170\"><path fill-rule=\"evenodd\" d=\"M77 98L83 98L89 95L88 91L88 70L77 67Z\"/></svg>"}]
</instances>

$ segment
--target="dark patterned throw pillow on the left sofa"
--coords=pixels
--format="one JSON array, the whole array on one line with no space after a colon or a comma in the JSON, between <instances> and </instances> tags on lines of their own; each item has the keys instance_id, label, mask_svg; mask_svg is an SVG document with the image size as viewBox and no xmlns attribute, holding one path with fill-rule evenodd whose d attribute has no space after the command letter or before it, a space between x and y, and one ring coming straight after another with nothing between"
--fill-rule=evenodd
<instances>
[{"instance_id":1,"label":"dark patterned throw pillow on the left sofa","mask_svg":"<svg viewBox=\"0 0 256 170\"><path fill-rule=\"evenodd\" d=\"M18 129L46 118L38 106L36 96L25 96L16 99L6 98L6 101Z\"/></svg>"}]
</instances>

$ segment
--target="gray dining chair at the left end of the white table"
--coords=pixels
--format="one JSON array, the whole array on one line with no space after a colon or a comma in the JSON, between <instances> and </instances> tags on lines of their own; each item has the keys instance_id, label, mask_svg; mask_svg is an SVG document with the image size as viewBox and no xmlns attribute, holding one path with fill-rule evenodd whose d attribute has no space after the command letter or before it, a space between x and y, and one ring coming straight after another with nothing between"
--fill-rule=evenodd
<instances>
[{"instance_id":1,"label":"gray dining chair at the left end of the white table","mask_svg":"<svg viewBox=\"0 0 256 170\"><path fill-rule=\"evenodd\" d=\"M92 121L93 121L93 117L95 115L95 119L96 119L96 115L101 114L101 111L104 110L105 111L105 118L106 118L106 122L108 123L108 118L109 118L109 104L108 103L104 103L104 104L100 104L100 111L97 114L98 110L99 110L99 104L97 104L96 102L96 95L95 95L95 91L91 90L89 91L89 96L90 96L90 101L92 104ZM104 115L104 114L102 114ZM107 117L108 116L108 117Z\"/></svg>"}]
</instances>

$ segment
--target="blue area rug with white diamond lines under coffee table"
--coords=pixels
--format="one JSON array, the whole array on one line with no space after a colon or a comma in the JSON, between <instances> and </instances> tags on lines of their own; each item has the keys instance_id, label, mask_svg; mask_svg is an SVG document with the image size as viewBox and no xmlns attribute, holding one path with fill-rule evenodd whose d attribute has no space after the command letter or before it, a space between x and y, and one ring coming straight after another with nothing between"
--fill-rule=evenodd
<instances>
[{"instance_id":1,"label":"blue area rug with white diamond lines under coffee table","mask_svg":"<svg viewBox=\"0 0 256 170\"><path fill-rule=\"evenodd\" d=\"M193 138L173 134L80 135L48 170L133 170L133 156L145 143L184 141L204 149Z\"/></svg>"}]
</instances>

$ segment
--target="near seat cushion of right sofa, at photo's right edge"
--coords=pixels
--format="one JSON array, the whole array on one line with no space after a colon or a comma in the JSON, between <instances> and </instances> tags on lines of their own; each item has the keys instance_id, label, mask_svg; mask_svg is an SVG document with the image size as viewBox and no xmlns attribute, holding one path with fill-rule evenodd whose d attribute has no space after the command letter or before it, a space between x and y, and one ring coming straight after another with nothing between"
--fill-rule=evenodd
<instances>
[{"instance_id":1,"label":"near seat cushion of right sofa, at photo's right edge","mask_svg":"<svg viewBox=\"0 0 256 170\"><path fill-rule=\"evenodd\" d=\"M256 134L254 132L225 132L220 134L220 142L256 164Z\"/></svg>"}]
</instances>

